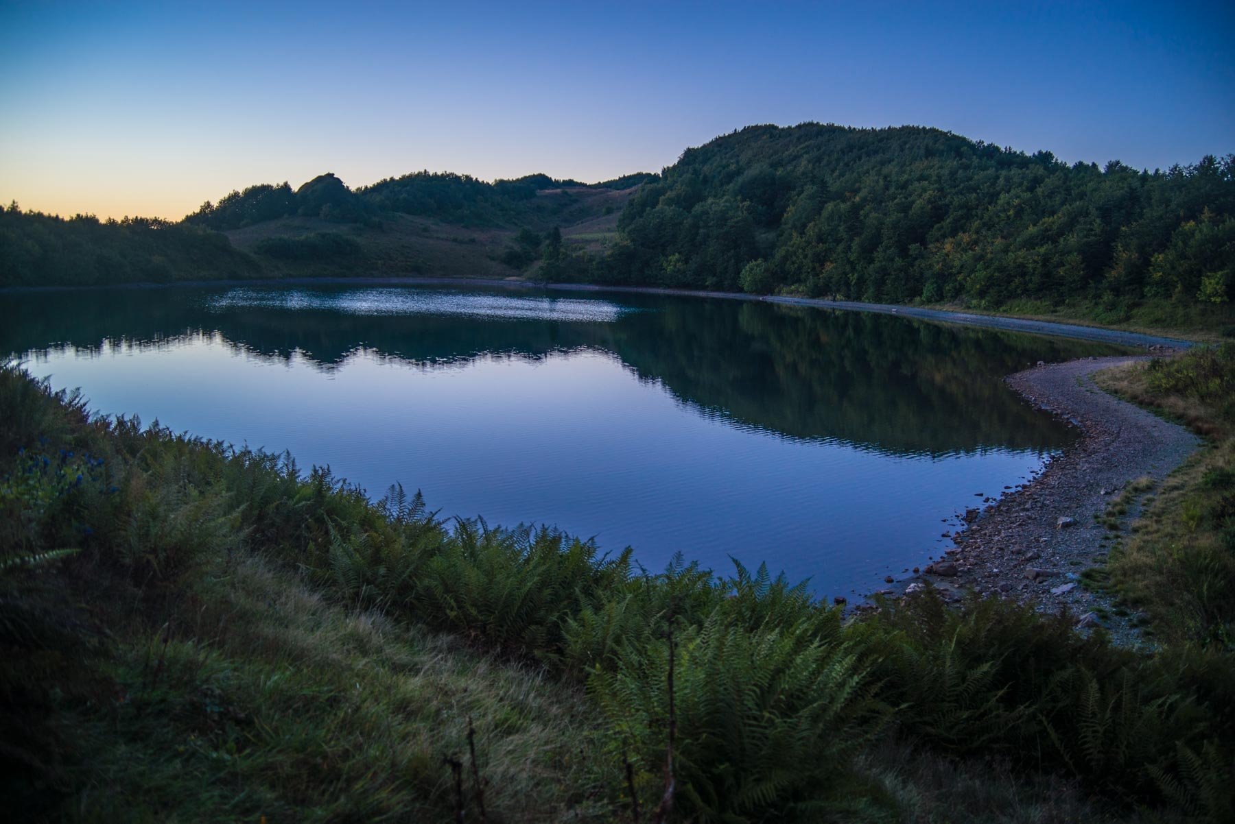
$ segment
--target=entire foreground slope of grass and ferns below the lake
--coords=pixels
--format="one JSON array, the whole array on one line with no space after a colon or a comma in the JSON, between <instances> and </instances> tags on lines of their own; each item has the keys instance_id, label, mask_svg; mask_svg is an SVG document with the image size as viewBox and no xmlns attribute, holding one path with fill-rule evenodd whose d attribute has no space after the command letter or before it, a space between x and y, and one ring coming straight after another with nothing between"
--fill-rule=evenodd
<instances>
[{"instance_id":1,"label":"entire foreground slope of grass and ferns below the lake","mask_svg":"<svg viewBox=\"0 0 1235 824\"><path fill-rule=\"evenodd\" d=\"M683 814L1105 820L1156 799L1219 820L1210 653L1113 650L997 601L842 627L762 575L629 577L553 535L450 534L415 502L80 410L0 374L0 757L32 818L447 820L471 718L494 820L626 820L624 756L645 813L661 793L668 606Z\"/></svg>"}]
</instances>

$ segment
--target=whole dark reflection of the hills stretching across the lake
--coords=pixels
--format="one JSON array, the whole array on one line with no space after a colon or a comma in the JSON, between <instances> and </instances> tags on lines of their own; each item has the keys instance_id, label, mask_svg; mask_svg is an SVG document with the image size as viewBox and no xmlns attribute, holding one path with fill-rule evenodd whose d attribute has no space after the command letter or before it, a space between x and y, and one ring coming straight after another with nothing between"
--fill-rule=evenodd
<instances>
[{"instance_id":1,"label":"whole dark reflection of the hills stretching across the lake","mask_svg":"<svg viewBox=\"0 0 1235 824\"><path fill-rule=\"evenodd\" d=\"M233 305L217 291L151 290L5 296L0 349L104 339L164 345L217 331L268 358L300 352L332 369L358 349L427 368L508 354L538 359L579 348L614 353L641 379L739 426L829 438L889 453L1058 447L1068 433L1020 402L1002 377L1026 364L1109 347L737 301L624 296L645 310L608 323L487 321L466 316L345 315Z\"/></svg>"}]
</instances>

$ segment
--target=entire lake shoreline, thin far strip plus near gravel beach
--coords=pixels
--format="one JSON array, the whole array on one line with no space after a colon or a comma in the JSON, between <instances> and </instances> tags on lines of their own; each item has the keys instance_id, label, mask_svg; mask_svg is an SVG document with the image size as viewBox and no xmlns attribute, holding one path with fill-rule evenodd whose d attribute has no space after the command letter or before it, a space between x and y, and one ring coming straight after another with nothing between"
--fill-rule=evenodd
<instances>
[{"instance_id":1,"label":"entire lake shoreline, thin far strip plus near gravel beach","mask_svg":"<svg viewBox=\"0 0 1235 824\"><path fill-rule=\"evenodd\" d=\"M304 278L282 280L184 281L175 284L124 284L117 286L44 286L7 287L6 292L94 291L99 289L174 289L178 286L290 286L316 284L363 285L480 285L520 290L557 290L577 292L652 294L684 297L720 297L797 306L902 315L927 322L979 326L1031 334L1077 337L1125 347L1146 347L1151 352L1170 352L1193 345L1192 342L1160 338L1142 333L1100 327L953 313L879 303L824 301L730 292L687 291L659 287L605 287L592 284L550 284L529 281L454 278ZM1083 333L1083 334L1071 334ZM1042 470L1024 484L1007 486L968 509L960 519L965 525L952 534L953 546L945 555L913 575L897 575L888 588L858 596L850 608L858 612L876 608L873 596L903 597L925 582L932 583L946 599L955 601L965 591L983 596L1016 598L1034 603L1040 611L1056 612L1067 607L1077 617L1094 611L1109 613L1110 597L1089 592L1079 572L1100 566L1112 543L1108 530L1095 516L1102 516L1110 500L1142 476L1161 481L1181 465L1202 440L1186 428L1166 422L1151 412L1108 395L1093 384L1093 375L1110 366L1150 360L1151 355L1114 355L1083 358L1056 364L1041 364L1004 377L1025 402L1049 412L1072 427L1081 437L1077 443L1050 458ZM1140 502L1132 502L1121 521L1121 533L1139 514ZM958 513L960 514L960 513ZM1060 528L1058 519L1070 518ZM951 521L951 519L950 519ZM937 570L951 570L939 574ZM932 571L935 570L935 571ZM1032 577L1031 570L1036 570ZM908 570L906 570L908 572ZM1062 591L1057 591L1063 587ZM1099 613L1102 614L1102 613ZM1140 633L1128 618L1104 617L1100 622L1121 644L1140 643ZM1089 625L1089 624L1086 624Z\"/></svg>"}]
</instances>

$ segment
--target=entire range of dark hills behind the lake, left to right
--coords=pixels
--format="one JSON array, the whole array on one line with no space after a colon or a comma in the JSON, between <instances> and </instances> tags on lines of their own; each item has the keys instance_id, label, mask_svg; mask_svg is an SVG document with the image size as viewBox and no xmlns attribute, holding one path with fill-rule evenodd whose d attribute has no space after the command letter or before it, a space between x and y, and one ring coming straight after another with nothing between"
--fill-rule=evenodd
<instances>
[{"instance_id":1,"label":"entire range of dark hills behind the lake, left to right","mask_svg":"<svg viewBox=\"0 0 1235 824\"><path fill-rule=\"evenodd\" d=\"M174 231L173 231L174 229ZM215 233L226 237L211 237ZM659 175L256 185L180 223L0 220L0 285L437 275L1235 329L1235 155L1068 165L934 128L751 126ZM1062 307L1062 308L1061 308Z\"/></svg>"}]
</instances>

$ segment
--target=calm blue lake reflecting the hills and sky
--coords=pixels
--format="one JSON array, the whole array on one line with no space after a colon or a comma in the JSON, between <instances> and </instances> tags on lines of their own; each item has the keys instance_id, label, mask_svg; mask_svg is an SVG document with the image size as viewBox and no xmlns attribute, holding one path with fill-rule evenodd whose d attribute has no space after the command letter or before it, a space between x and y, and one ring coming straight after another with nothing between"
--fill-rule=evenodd
<instances>
[{"instance_id":1,"label":"calm blue lake reflecting the hills and sky","mask_svg":"<svg viewBox=\"0 0 1235 824\"><path fill-rule=\"evenodd\" d=\"M441 517L766 561L830 597L939 556L1076 437L1002 381L1104 344L720 299L388 285L0 295L0 350L91 410ZM979 495L982 493L982 495Z\"/></svg>"}]
</instances>

